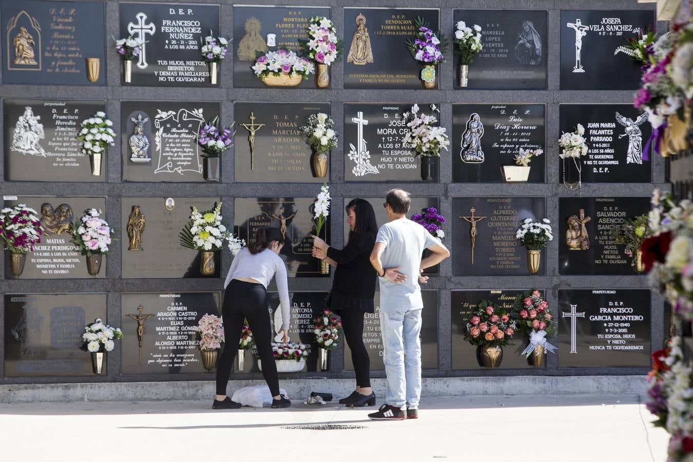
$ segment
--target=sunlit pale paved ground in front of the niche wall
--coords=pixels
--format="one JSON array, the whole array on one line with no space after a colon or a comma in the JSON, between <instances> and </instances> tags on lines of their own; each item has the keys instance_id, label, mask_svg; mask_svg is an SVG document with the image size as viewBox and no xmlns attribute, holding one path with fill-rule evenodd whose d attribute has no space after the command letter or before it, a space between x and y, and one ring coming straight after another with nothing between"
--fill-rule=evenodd
<instances>
[{"instance_id":1,"label":"sunlit pale paved ground in front of the niche wall","mask_svg":"<svg viewBox=\"0 0 693 462\"><path fill-rule=\"evenodd\" d=\"M1 460L660 462L668 441L637 395L425 398L421 418L397 422L368 420L375 408L297 399L290 409L210 407L211 400L0 404ZM323 423L365 428L285 428Z\"/></svg>"}]
</instances>

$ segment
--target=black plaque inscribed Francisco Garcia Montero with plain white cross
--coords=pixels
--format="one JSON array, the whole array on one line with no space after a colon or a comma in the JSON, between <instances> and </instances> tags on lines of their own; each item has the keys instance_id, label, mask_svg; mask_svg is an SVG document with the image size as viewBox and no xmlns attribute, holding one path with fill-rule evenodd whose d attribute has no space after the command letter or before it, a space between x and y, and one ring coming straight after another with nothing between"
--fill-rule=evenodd
<instances>
[{"instance_id":1,"label":"black plaque inscribed Francisco Garcia Montero with plain white cross","mask_svg":"<svg viewBox=\"0 0 693 462\"><path fill-rule=\"evenodd\" d=\"M650 366L650 291L559 290L559 367Z\"/></svg>"}]
</instances>

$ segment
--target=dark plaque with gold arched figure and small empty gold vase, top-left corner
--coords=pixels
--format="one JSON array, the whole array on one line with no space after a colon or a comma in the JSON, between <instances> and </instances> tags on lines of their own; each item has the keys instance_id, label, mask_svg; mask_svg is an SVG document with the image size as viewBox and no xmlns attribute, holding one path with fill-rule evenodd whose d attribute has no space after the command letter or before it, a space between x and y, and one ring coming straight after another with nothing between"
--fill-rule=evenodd
<instances>
[{"instance_id":1,"label":"dark plaque with gold arched figure and small empty gold vase, top-left corner","mask_svg":"<svg viewBox=\"0 0 693 462\"><path fill-rule=\"evenodd\" d=\"M5 0L0 15L3 84L106 85L103 1Z\"/></svg>"}]
</instances>

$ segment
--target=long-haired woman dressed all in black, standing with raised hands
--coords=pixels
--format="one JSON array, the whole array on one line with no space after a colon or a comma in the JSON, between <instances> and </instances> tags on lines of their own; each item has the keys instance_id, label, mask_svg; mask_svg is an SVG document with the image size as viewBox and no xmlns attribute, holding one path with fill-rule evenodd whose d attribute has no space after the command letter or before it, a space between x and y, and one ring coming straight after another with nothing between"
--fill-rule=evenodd
<instances>
[{"instance_id":1,"label":"long-haired woman dressed all in black, standing with raised hands","mask_svg":"<svg viewBox=\"0 0 693 462\"><path fill-rule=\"evenodd\" d=\"M356 372L356 390L347 398L342 398L340 403L353 407L374 406L376 394L371 389L371 362L363 344L363 318L365 313L374 312L373 296L377 279L370 256L376 244L378 224L373 207L364 199L353 199L345 209L349 223L346 247L335 249L313 236L313 256L337 268L326 303L330 310L342 318L344 337L349 344Z\"/></svg>"}]
</instances>

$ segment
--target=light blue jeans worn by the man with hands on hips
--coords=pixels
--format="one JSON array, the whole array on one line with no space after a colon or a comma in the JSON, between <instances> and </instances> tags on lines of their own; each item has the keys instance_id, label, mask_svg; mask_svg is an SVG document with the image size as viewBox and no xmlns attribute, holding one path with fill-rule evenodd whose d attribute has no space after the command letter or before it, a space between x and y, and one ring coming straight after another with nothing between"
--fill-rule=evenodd
<instances>
[{"instance_id":1,"label":"light blue jeans worn by the man with hands on hips","mask_svg":"<svg viewBox=\"0 0 693 462\"><path fill-rule=\"evenodd\" d=\"M421 310L380 312L385 349L385 402L405 409L421 398Z\"/></svg>"}]
</instances>

